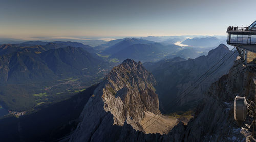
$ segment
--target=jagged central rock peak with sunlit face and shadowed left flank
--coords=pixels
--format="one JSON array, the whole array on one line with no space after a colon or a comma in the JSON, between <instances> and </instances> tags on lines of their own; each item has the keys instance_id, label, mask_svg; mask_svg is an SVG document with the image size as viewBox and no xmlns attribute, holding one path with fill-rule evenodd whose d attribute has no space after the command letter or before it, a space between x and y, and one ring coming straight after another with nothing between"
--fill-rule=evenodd
<instances>
[{"instance_id":1,"label":"jagged central rock peak with sunlit face and shadowed left flank","mask_svg":"<svg viewBox=\"0 0 256 142\"><path fill-rule=\"evenodd\" d=\"M70 141L117 140L124 122L142 131L144 112L159 111L155 83L140 62L127 59L114 67L84 107Z\"/></svg>"}]
</instances>

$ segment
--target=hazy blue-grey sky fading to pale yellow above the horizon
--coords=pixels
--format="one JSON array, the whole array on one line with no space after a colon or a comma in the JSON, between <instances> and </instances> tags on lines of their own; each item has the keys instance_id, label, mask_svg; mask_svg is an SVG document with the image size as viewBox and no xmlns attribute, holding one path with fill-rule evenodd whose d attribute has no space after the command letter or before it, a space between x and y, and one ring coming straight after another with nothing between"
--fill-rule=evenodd
<instances>
[{"instance_id":1,"label":"hazy blue-grey sky fading to pale yellow above the horizon","mask_svg":"<svg viewBox=\"0 0 256 142\"><path fill-rule=\"evenodd\" d=\"M225 35L255 15L255 1L0 0L0 37Z\"/></svg>"}]
</instances>

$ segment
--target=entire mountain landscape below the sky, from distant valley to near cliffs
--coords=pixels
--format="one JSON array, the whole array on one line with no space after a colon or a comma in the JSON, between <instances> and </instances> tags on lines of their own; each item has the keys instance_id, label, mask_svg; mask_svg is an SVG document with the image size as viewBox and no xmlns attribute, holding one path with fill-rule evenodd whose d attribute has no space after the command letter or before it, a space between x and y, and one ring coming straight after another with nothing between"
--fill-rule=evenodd
<instances>
[{"instance_id":1,"label":"entire mountain landscape below the sky, from distant valley to near cliffs","mask_svg":"<svg viewBox=\"0 0 256 142\"><path fill-rule=\"evenodd\" d=\"M233 99L254 99L255 73L187 37L0 45L0 141L243 141Z\"/></svg>"}]
</instances>

